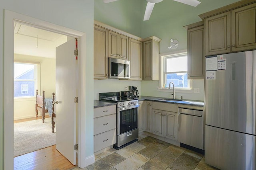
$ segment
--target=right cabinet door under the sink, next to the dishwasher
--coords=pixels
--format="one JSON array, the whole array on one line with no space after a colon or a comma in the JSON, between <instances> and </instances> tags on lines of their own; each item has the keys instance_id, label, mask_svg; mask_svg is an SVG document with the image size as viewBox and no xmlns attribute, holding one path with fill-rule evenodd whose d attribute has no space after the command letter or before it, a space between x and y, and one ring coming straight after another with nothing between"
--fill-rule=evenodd
<instances>
[{"instance_id":1,"label":"right cabinet door under the sink, next to the dishwasher","mask_svg":"<svg viewBox=\"0 0 256 170\"><path fill-rule=\"evenodd\" d=\"M178 141L178 114L164 111L164 137Z\"/></svg>"}]
</instances>

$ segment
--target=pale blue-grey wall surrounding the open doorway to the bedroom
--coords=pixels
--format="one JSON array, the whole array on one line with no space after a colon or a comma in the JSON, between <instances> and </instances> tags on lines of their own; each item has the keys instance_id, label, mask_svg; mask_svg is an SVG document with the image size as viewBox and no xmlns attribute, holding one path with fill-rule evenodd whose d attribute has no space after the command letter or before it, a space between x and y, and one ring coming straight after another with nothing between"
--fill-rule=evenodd
<instances>
[{"instance_id":1,"label":"pale blue-grey wall surrounding the open doorway to the bedroom","mask_svg":"<svg viewBox=\"0 0 256 170\"><path fill-rule=\"evenodd\" d=\"M61 25L86 33L86 58L84 59L86 80L85 112L82 119L86 122L86 143L83 144L85 157L93 155L93 22L94 0L0 0L0 23L4 23L4 9L30 16L42 21ZM0 170L4 169L4 25L0 24ZM13 56L5 56L13 57ZM12 75L10 75L12 76ZM5 111L5 113L4 113ZM12 113L11 113L12 114ZM11 133L11 132L10 132ZM6 158L5 158L6 159ZM86 162L86 160L83 160Z\"/></svg>"}]
</instances>

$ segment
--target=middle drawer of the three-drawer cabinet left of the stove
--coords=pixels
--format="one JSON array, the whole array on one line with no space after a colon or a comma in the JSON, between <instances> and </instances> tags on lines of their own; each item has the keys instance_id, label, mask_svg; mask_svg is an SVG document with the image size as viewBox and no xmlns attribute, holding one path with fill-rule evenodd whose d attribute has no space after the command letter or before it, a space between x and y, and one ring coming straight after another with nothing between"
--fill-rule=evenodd
<instances>
[{"instance_id":1,"label":"middle drawer of the three-drawer cabinet left of the stove","mask_svg":"<svg viewBox=\"0 0 256 170\"><path fill-rule=\"evenodd\" d=\"M94 118L94 135L116 128L116 114Z\"/></svg>"}]
</instances>

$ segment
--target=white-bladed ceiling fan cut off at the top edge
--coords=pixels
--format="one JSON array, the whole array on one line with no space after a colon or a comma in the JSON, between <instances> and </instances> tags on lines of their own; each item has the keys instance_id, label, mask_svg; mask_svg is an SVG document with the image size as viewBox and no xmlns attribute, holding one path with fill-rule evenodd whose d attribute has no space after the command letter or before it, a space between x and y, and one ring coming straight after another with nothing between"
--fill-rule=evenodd
<instances>
[{"instance_id":1,"label":"white-bladed ceiling fan cut off at the top edge","mask_svg":"<svg viewBox=\"0 0 256 170\"><path fill-rule=\"evenodd\" d=\"M117 0L103 0L103 1L105 3L108 3L108 2L113 2L113 1L117 1ZM144 21L149 20L152 10L154 8L154 5L158 2L162 2L163 0L146 0L146 1L148 1L148 4L146 6L146 11L144 14ZM198 6L198 4L201 3L198 0L174 0L174 1L181 2L183 4L187 4L187 5L194 6L194 7Z\"/></svg>"}]
</instances>

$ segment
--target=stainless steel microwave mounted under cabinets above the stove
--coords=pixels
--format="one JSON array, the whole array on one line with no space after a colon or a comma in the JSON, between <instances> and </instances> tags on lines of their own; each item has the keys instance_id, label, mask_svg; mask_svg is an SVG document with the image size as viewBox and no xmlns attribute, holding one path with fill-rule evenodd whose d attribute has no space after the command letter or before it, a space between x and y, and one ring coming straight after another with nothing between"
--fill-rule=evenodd
<instances>
[{"instance_id":1,"label":"stainless steel microwave mounted under cabinets above the stove","mask_svg":"<svg viewBox=\"0 0 256 170\"><path fill-rule=\"evenodd\" d=\"M108 58L108 78L130 78L130 61Z\"/></svg>"}]
</instances>

